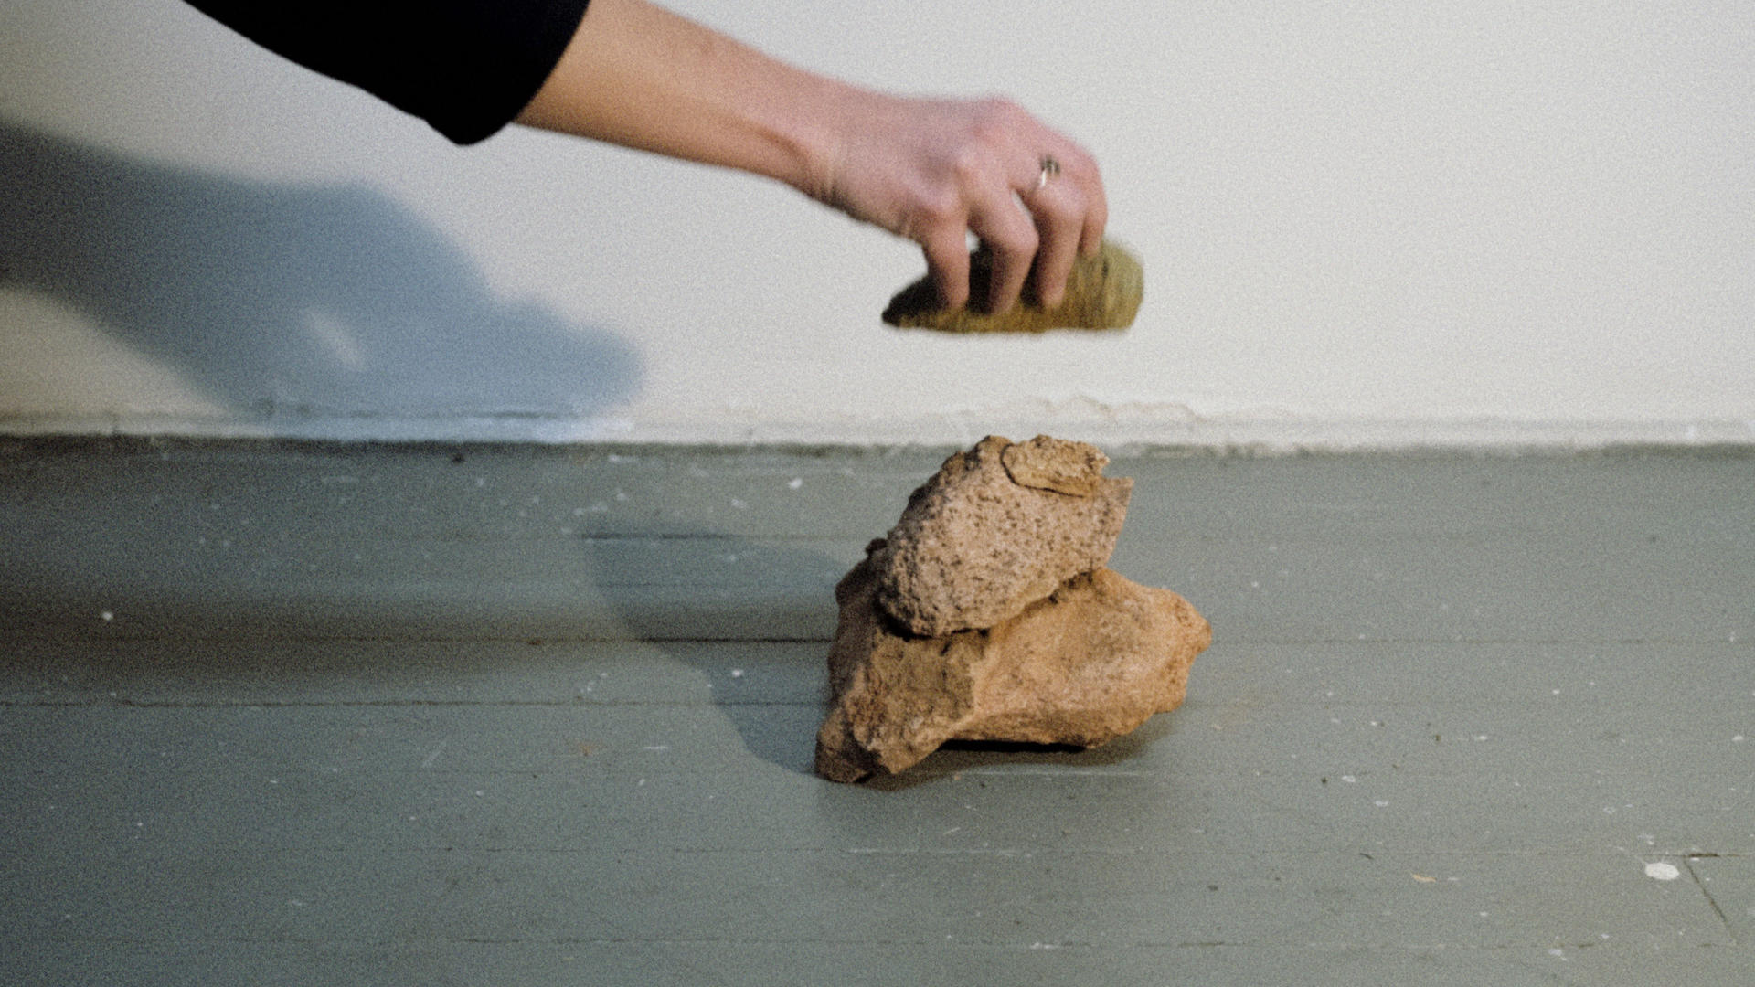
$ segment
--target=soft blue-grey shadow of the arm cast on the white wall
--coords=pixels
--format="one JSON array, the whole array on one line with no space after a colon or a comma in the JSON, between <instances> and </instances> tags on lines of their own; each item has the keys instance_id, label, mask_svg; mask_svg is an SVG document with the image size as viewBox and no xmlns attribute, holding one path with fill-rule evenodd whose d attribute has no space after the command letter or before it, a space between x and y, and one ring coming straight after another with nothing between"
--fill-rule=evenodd
<instances>
[{"instance_id":1,"label":"soft blue-grey shadow of the arm cast on the white wall","mask_svg":"<svg viewBox=\"0 0 1755 987\"><path fill-rule=\"evenodd\" d=\"M7 121L0 176L0 292L90 316L240 416L581 418L639 386L625 341L497 299L372 188L240 181Z\"/></svg>"}]
</instances>

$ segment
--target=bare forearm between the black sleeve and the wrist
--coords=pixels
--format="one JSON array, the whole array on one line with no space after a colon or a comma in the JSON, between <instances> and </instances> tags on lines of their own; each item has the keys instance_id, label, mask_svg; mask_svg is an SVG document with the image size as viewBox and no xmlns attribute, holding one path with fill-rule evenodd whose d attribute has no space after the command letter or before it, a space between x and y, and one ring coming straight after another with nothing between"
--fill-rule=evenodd
<instances>
[{"instance_id":1,"label":"bare forearm between the black sleeve and the wrist","mask_svg":"<svg viewBox=\"0 0 1755 987\"><path fill-rule=\"evenodd\" d=\"M644 0L591 0L518 123L828 193L837 116L878 98Z\"/></svg>"}]
</instances>

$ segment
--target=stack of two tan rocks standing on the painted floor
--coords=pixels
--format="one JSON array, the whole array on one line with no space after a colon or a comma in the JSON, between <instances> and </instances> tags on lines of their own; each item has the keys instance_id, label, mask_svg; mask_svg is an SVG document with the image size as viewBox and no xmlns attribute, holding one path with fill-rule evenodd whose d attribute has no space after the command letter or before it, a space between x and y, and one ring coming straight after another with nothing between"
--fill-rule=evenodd
<instances>
[{"instance_id":1,"label":"stack of two tan rocks standing on the painted floor","mask_svg":"<svg viewBox=\"0 0 1755 987\"><path fill-rule=\"evenodd\" d=\"M893 774L953 739L1097 746L1181 704L1213 630L1104 567L1134 486L1107 462L990 436L914 490L835 587L820 774Z\"/></svg>"}]
</instances>

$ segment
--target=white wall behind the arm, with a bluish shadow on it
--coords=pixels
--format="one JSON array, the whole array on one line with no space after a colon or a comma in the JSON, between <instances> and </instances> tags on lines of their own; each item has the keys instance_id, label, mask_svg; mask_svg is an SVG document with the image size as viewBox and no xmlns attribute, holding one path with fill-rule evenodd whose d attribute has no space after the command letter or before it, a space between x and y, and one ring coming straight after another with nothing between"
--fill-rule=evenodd
<instances>
[{"instance_id":1,"label":"white wall behind the arm, with a bluish shadow on it","mask_svg":"<svg viewBox=\"0 0 1755 987\"><path fill-rule=\"evenodd\" d=\"M677 0L1018 97L1146 263L1118 335L883 327L918 251L532 132L455 149L174 0L0 9L0 430L1755 441L1755 5Z\"/></svg>"}]
</instances>

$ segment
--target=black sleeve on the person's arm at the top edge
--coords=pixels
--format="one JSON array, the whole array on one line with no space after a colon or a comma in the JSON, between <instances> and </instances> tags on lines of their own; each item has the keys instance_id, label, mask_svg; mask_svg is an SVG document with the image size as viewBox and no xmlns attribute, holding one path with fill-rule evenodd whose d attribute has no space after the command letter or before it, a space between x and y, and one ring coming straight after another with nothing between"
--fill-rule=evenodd
<instances>
[{"instance_id":1,"label":"black sleeve on the person's arm at the top edge","mask_svg":"<svg viewBox=\"0 0 1755 987\"><path fill-rule=\"evenodd\" d=\"M537 95L590 0L188 2L263 47L474 144Z\"/></svg>"}]
</instances>

